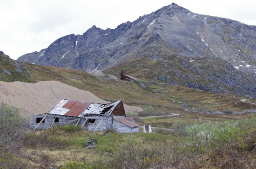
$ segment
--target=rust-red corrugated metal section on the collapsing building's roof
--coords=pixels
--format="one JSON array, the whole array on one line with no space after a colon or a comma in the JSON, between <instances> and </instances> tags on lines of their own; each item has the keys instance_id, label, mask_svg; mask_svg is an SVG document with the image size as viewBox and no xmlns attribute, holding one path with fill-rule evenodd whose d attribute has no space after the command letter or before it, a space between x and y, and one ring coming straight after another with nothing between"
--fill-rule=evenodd
<instances>
[{"instance_id":1,"label":"rust-red corrugated metal section on the collapsing building's roof","mask_svg":"<svg viewBox=\"0 0 256 169\"><path fill-rule=\"evenodd\" d=\"M69 100L63 108L70 109L65 116L75 116L78 117L91 103L88 102L80 102L80 101L71 101Z\"/></svg>"}]
</instances>

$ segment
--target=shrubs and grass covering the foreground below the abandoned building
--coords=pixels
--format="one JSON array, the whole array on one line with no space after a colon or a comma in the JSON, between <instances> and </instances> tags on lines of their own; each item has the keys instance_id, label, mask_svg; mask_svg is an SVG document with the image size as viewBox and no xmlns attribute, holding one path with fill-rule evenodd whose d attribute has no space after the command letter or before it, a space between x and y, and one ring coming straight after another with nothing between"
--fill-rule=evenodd
<instances>
[{"instance_id":1,"label":"shrubs and grass covering the foreground below the abandoned building","mask_svg":"<svg viewBox=\"0 0 256 169\"><path fill-rule=\"evenodd\" d=\"M148 109L152 110L145 108ZM152 119L141 119L141 125L147 124L147 120ZM256 166L255 114L239 119L183 115L155 121L165 126L153 130L154 133L88 132L74 125L31 131L27 120L20 117L19 109L2 103L0 168L254 169ZM88 140L96 143L93 149L85 148Z\"/></svg>"}]
</instances>

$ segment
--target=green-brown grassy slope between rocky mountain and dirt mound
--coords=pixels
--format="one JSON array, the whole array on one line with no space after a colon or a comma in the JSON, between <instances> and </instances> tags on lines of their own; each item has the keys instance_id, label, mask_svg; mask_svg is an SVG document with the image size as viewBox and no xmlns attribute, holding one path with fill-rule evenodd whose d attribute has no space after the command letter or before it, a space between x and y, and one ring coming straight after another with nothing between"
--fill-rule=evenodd
<instances>
[{"instance_id":1,"label":"green-brown grassy slope between rocky mountain and dirt mound","mask_svg":"<svg viewBox=\"0 0 256 169\"><path fill-rule=\"evenodd\" d=\"M255 99L209 93L182 86L173 86L168 83L161 83L161 81L148 81L143 78L142 73L136 73L132 70L128 70L128 74L138 75L137 78L141 81L110 80L78 70L19 63L4 55L0 55L0 68L1 81L31 83L61 81L67 85L88 90L103 100L121 99L128 105L153 106L155 111L163 113L214 113L219 111L233 113L251 112L256 109L256 105L251 104L256 103ZM16 69L21 69L22 72L17 73L15 72ZM108 73L118 77L118 69ZM11 75L3 73L3 70L9 70ZM246 103L241 101L242 99L246 99Z\"/></svg>"}]
</instances>

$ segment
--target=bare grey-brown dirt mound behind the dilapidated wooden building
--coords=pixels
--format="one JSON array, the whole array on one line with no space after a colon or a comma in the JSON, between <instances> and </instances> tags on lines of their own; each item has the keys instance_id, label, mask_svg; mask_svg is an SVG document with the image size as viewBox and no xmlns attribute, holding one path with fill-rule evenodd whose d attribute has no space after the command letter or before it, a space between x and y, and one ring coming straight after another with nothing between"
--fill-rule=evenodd
<instances>
[{"instance_id":1,"label":"bare grey-brown dirt mound behind the dilapidated wooden building","mask_svg":"<svg viewBox=\"0 0 256 169\"><path fill-rule=\"evenodd\" d=\"M59 81L24 83L0 81L0 101L19 107L24 116L48 113L62 99L108 103L91 92L80 90ZM141 107L124 105L126 112L141 111Z\"/></svg>"}]
</instances>

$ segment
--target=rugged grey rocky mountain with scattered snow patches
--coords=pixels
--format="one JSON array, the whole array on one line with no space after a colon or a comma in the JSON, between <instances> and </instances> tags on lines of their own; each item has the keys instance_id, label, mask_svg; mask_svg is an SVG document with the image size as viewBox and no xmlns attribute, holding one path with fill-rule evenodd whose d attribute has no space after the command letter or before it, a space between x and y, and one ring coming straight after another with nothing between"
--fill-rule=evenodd
<instances>
[{"instance_id":1,"label":"rugged grey rocky mountain with scattered snow patches","mask_svg":"<svg viewBox=\"0 0 256 169\"><path fill-rule=\"evenodd\" d=\"M255 42L256 26L173 3L115 29L94 25L18 60L111 74L125 68L145 79L256 97Z\"/></svg>"}]
</instances>

